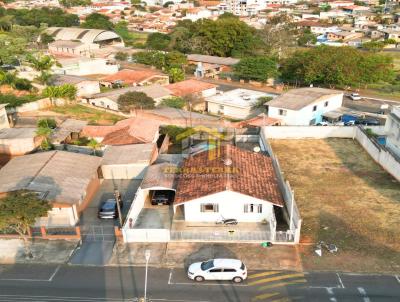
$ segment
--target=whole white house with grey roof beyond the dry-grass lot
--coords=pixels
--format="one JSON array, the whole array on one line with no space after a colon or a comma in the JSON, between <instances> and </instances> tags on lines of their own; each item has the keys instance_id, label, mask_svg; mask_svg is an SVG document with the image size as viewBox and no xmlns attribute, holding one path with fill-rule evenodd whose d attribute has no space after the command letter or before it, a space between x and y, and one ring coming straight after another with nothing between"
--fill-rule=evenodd
<instances>
[{"instance_id":1,"label":"whole white house with grey roof beyond the dry-grass lot","mask_svg":"<svg viewBox=\"0 0 400 302\"><path fill-rule=\"evenodd\" d=\"M265 105L268 116L285 125L314 125L324 113L342 106L343 92L325 88L292 89Z\"/></svg>"}]
</instances>

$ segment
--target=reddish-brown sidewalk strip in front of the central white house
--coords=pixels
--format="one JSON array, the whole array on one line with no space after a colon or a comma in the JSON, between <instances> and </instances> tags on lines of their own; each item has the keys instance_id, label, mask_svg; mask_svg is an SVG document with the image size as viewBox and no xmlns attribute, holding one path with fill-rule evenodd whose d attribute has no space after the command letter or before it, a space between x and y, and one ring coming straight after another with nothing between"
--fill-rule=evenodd
<instances>
[{"instance_id":1,"label":"reddish-brown sidewalk strip in front of the central white house","mask_svg":"<svg viewBox=\"0 0 400 302\"><path fill-rule=\"evenodd\" d=\"M248 243L118 243L108 265L143 265L146 249L151 250L151 266L186 268L190 263L211 258L238 258L251 270L302 270L294 246L264 248Z\"/></svg>"}]
</instances>

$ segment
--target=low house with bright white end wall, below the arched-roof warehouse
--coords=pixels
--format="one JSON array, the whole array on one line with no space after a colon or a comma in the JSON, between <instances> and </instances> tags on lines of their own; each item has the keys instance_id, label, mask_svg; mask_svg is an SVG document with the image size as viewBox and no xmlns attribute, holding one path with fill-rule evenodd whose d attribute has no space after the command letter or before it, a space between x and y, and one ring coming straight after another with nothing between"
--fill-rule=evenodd
<instances>
[{"instance_id":1,"label":"low house with bright white end wall, below the arched-roof warehouse","mask_svg":"<svg viewBox=\"0 0 400 302\"><path fill-rule=\"evenodd\" d=\"M51 79L51 84L54 86L60 86L63 84L74 85L77 89L78 97L90 97L93 94L100 93L99 81L79 76L57 74Z\"/></svg>"}]
</instances>

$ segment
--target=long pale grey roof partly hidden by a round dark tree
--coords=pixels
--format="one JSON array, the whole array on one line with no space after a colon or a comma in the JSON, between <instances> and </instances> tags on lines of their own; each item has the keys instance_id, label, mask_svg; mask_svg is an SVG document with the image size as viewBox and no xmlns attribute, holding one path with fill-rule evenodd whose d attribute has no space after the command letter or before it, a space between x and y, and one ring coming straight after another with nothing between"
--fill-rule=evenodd
<instances>
[{"instance_id":1,"label":"long pale grey roof partly hidden by a round dark tree","mask_svg":"<svg viewBox=\"0 0 400 302\"><path fill-rule=\"evenodd\" d=\"M111 91L94 94L92 96L92 98L94 98L94 99L108 98L108 99L116 102L120 95L127 93L127 92L131 92L131 91L143 92L147 96L149 96L153 99L163 98L163 97L167 97L167 96L171 95L171 91L169 91L167 88L156 84L156 85L150 85L150 86L132 86L132 87L126 87L126 88L121 88L121 89L114 89Z\"/></svg>"}]
</instances>

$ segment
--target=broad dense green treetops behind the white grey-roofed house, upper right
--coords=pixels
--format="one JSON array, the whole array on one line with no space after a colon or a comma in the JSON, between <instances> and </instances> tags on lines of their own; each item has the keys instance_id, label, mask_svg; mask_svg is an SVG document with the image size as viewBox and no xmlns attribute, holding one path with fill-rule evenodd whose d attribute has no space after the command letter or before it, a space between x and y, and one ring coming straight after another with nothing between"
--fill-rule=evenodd
<instances>
[{"instance_id":1,"label":"broad dense green treetops behind the white grey-roofed house, upper right","mask_svg":"<svg viewBox=\"0 0 400 302\"><path fill-rule=\"evenodd\" d=\"M282 79L300 84L359 86L394 80L391 57L351 47L319 46L281 62Z\"/></svg>"}]
</instances>

